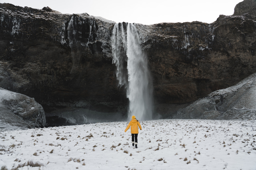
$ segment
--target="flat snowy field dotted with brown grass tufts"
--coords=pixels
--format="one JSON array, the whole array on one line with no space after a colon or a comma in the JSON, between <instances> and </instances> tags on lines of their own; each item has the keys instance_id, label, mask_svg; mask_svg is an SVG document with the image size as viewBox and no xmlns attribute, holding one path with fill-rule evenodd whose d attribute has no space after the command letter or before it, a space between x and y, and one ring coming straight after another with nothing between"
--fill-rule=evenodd
<instances>
[{"instance_id":1,"label":"flat snowy field dotted with brown grass tufts","mask_svg":"<svg viewBox=\"0 0 256 170\"><path fill-rule=\"evenodd\" d=\"M256 169L255 120L141 121L0 130L0 167L14 169ZM27 166L33 165L35 167ZM38 163L38 165L36 164ZM40 167L39 167L40 166Z\"/></svg>"}]
</instances>

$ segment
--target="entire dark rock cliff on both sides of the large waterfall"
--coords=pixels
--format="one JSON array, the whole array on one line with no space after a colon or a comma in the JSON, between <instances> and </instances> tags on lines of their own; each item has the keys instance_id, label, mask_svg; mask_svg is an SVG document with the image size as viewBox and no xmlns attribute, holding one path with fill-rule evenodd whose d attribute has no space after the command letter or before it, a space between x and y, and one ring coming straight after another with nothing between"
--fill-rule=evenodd
<instances>
[{"instance_id":1,"label":"entire dark rock cliff on both sides of the large waterfall","mask_svg":"<svg viewBox=\"0 0 256 170\"><path fill-rule=\"evenodd\" d=\"M246 6L250 6L247 8ZM187 103L256 71L254 0L211 23L137 24L155 103ZM49 106L114 112L127 98L112 64L114 22L0 4L0 86Z\"/></svg>"}]
</instances>

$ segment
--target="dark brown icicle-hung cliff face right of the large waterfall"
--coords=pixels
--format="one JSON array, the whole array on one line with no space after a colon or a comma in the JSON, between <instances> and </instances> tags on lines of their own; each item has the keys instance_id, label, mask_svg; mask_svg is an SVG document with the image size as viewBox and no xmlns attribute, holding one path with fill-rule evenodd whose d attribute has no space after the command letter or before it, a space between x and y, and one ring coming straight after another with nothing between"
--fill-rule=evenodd
<instances>
[{"instance_id":1,"label":"dark brown icicle-hung cliff face right of the large waterfall","mask_svg":"<svg viewBox=\"0 0 256 170\"><path fill-rule=\"evenodd\" d=\"M234 15L220 15L211 24L159 23L146 26L147 33L139 25L156 101L190 102L254 73L255 14L256 1L248 0L237 4Z\"/></svg>"}]
</instances>

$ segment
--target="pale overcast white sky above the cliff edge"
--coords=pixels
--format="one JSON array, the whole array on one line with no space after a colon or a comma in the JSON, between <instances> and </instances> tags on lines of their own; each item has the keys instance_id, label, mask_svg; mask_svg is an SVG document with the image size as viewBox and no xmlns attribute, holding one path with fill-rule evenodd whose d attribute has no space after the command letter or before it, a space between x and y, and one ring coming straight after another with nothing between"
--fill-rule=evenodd
<instances>
[{"instance_id":1,"label":"pale overcast white sky above the cliff edge","mask_svg":"<svg viewBox=\"0 0 256 170\"><path fill-rule=\"evenodd\" d=\"M115 22L155 24L161 22L212 23L220 14L232 15L243 0L0 0L17 6L42 9L49 6L63 14L88 13Z\"/></svg>"}]
</instances>

